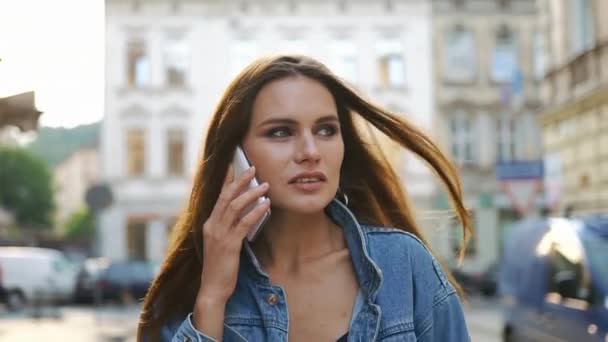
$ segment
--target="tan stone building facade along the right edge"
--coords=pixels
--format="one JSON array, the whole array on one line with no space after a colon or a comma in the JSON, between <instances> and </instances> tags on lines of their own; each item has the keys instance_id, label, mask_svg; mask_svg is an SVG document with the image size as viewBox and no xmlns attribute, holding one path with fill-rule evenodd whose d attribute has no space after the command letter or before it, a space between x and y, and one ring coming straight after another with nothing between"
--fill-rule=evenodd
<instances>
[{"instance_id":1,"label":"tan stone building facade along the right edge","mask_svg":"<svg viewBox=\"0 0 608 342\"><path fill-rule=\"evenodd\" d=\"M542 83L554 211L608 209L608 2L538 2L548 50Z\"/></svg>"}]
</instances>

